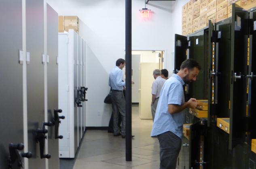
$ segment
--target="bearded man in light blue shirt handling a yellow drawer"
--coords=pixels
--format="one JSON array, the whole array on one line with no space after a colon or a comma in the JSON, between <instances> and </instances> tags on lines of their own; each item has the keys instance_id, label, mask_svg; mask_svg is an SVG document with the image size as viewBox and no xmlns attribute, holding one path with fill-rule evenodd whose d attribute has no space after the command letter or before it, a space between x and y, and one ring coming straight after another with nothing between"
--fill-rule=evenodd
<instances>
[{"instance_id":1,"label":"bearded man in light blue shirt handling a yellow drawer","mask_svg":"<svg viewBox=\"0 0 256 169\"><path fill-rule=\"evenodd\" d=\"M184 101L183 85L197 79L201 67L193 59L182 62L180 71L166 80L160 93L151 136L160 144L160 169L176 169L182 143L182 110L197 107L197 100Z\"/></svg>"}]
</instances>

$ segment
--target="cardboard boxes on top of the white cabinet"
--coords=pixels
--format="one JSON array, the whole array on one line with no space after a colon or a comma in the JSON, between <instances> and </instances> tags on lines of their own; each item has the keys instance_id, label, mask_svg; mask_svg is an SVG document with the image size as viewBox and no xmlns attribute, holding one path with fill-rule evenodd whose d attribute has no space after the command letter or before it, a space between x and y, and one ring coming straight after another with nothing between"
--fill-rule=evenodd
<instances>
[{"instance_id":1,"label":"cardboard boxes on top of the white cabinet","mask_svg":"<svg viewBox=\"0 0 256 169\"><path fill-rule=\"evenodd\" d=\"M59 32L68 32L68 29L74 29L78 33L79 23L77 16L59 16Z\"/></svg>"}]
</instances>

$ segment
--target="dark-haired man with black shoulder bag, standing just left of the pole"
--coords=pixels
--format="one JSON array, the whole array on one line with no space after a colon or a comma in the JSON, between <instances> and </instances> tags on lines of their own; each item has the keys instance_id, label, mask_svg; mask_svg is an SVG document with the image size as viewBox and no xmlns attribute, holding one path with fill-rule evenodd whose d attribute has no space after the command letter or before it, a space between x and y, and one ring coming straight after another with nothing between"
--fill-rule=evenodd
<instances>
[{"instance_id":1,"label":"dark-haired man with black shoulder bag, standing just left of the pole","mask_svg":"<svg viewBox=\"0 0 256 169\"><path fill-rule=\"evenodd\" d=\"M125 60L118 59L116 60L116 66L111 70L109 74L108 85L112 89L111 99L113 104L113 128L114 136L122 135L122 138L125 138L125 97L123 95L123 87L125 87L125 82L123 81L123 72L122 69L125 67ZM133 81L131 81L134 84ZM121 114L122 124L121 130L118 126L118 114ZM120 132L121 131L121 132Z\"/></svg>"}]
</instances>

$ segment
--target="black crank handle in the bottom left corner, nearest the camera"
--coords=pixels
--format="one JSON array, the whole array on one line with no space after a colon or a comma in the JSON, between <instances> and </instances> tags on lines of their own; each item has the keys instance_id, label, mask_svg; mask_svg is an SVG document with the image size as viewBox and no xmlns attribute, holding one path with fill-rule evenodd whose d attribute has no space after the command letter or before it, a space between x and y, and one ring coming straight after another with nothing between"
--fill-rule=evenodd
<instances>
[{"instance_id":1,"label":"black crank handle in the bottom left corner, nearest the camera","mask_svg":"<svg viewBox=\"0 0 256 169\"><path fill-rule=\"evenodd\" d=\"M31 158L32 153L21 153L19 150L23 150L24 144L19 143L19 144L9 144L9 152L10 152L10 157L9 157L9 168L10 169L21 169L23 168L22 166L22 157L26 158Z\"/></svg>"}]
</instances>

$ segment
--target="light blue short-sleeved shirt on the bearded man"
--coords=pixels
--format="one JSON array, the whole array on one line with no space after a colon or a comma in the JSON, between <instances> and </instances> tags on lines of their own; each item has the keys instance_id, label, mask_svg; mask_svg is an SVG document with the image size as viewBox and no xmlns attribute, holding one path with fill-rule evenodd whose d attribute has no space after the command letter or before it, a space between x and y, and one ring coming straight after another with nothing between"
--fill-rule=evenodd
<instances>
[{"instance_id":1,"label":"light blue short-sleeved shirt on the bearded man","mask_svg":"<svg viewBox=\"0 0 256 169\"><path fill-rule=\"evenodd\" d=\"M177 74L173 74L171 78L165 81L157 104L151 136L157 136L170 131L180 138L182 137L183 113L181 111L179 113L170 114L168 105L182 105L185 103L184 84L182 78Z\"/></svg>"}]
</instances>

